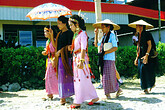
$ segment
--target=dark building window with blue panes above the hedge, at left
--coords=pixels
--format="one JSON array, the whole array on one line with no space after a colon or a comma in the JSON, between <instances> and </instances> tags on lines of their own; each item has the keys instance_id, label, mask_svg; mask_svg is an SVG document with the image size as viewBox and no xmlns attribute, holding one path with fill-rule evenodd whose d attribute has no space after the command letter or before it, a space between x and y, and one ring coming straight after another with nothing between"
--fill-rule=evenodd
<instances>
[{"instance_id":1,"label":"dark building window with blue panes above the hedge, at left","mask_svg":"<svg viewBox=\"0 0 165 110\"><path fill-rule=\"evenodd\" d=\"M44 36L44 27L45 25L3 24L3 38L8 42L10 36L12 39L18 37L21 46L45 47L47 38Z\"/></svg>"}]
</instances>

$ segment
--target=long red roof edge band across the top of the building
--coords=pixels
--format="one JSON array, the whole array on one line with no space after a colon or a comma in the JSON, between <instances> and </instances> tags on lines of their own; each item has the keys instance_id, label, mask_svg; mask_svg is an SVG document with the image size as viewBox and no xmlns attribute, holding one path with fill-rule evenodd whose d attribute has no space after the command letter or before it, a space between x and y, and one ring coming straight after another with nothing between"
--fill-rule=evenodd
<instances>
[{"instance_id":1,"label":"long red roof edge band across the top of the building","mask_svg":"<svg viewBox=\"0 0 165 110\"><path fill-rule=\"evenodd\" d=\"M95 12L94 2L75 1L75 0L1 0L0 6L12 6L12 7L28 7L33 8L43 3L57 3L66 6L72 11L82 10L85 12ZM130 5L101 3L102 13L113 14L132 14L136 16L159 19L158 11L139 8ZM165 12L161 11L161 20L165 21Z\"/></svg>"}]
</instances>

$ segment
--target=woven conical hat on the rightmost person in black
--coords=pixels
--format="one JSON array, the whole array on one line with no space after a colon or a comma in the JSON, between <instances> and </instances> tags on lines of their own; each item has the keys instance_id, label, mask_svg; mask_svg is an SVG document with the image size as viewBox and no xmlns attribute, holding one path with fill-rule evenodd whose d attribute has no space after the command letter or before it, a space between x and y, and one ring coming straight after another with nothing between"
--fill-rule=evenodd
<instances>
[{"instance_id":1,"label":"woven conical hat on the rightmost person in black","mask_svg":"<svg viewBox=\"0 0 165 110\"><path fill-rule=\"evenodd\" d=\"M132 28L136 28L136 25L144 25L144 26L146 26L146 29L151 29L154 27L153 25L151 25L143 20L138 20L138 21L128 24L128 26L132 27Z\"/></svg>"}]
</instances>

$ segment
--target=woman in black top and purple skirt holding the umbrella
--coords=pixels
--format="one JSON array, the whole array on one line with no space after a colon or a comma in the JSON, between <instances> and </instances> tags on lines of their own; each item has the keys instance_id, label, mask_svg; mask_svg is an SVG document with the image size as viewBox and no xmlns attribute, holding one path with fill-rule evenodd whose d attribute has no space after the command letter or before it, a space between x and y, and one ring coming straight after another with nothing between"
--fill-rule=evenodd
<instances>
[{"instance_id":1,"label":"woman in black top and purple skirt holding the umbrella","mask_svg":"<svg viewBox=\"0 0 165 110\"><path fill-rule=\"evenodd\" d=\"M60 32L56 36L54 63L57 70L58 90L61 105L66 103L65 98L74 94L73 72L71 69L71 55L68 46L72 43L73 32L68 29L68 18L60 16L57 20Z\"/></svg>"}]
</instances>

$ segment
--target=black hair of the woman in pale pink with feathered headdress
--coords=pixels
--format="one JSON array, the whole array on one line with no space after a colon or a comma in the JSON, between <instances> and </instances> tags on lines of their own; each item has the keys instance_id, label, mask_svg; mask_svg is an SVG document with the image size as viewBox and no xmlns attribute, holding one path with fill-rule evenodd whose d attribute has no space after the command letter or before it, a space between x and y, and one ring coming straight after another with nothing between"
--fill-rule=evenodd
<instances>
[{"instance_id":1,"label":"black hair of the woman in pale pink with feathered headdress","mask_svg":"<svg viewBox=\"0 0 165 110\"><path fill-rule=\"evenodd\" d=\"M85 21L82 17L80 17L78 15L72 15L70 18L77 20L78 24L79 24L79 27L82 30L86 30ZM76 24L76 22L74 22L74 21L71 21L71 22L73 22L74 25Z\"/></svg>"}]
</instances>

